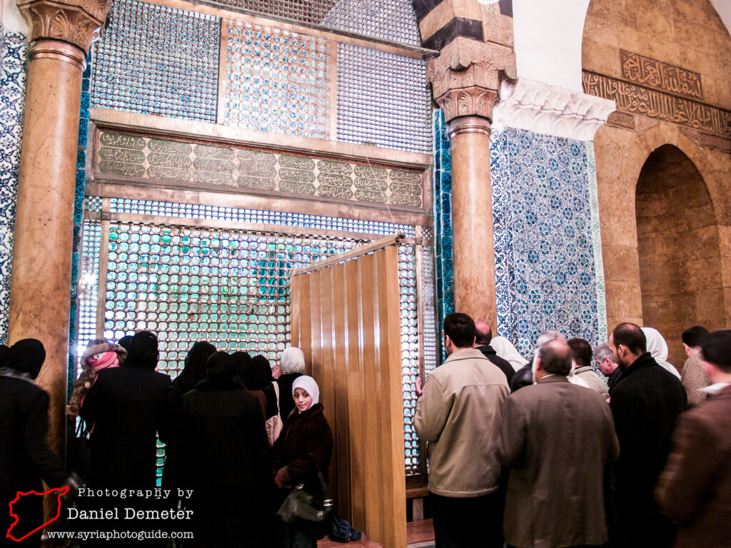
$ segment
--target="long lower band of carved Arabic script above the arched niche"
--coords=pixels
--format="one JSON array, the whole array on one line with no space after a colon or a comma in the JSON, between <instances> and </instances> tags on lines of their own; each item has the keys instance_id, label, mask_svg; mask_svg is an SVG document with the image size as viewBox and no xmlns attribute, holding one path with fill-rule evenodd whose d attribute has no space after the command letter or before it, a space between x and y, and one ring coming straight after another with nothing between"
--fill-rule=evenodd
<instances>
[{"instance_id":1,"label":"long lower band of carved Arabic script above the arched niche","mask_svg":"<svg viewBox=\"0 0 731 548\"><path fill-rule=\"evenodd\" d=\"M617 110L731 137L731 111L660 93L593 72L583 72L584 92L612 99Z\"/></svg>"}]
</instances>

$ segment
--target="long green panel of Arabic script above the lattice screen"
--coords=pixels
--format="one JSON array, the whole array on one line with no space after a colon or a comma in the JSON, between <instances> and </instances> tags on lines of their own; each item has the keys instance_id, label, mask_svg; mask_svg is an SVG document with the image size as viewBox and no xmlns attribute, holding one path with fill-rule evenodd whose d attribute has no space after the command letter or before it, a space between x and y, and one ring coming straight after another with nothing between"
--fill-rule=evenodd
<instances>
[{"instance_id":1,"label":"long green panel of Arabic script above the lattice screen","mask_svg":"<svg viewBox=\"0 0 731 548\"><path fill-rule=\"evenodd\" d=\"M102 129L96 130L94 174L100 179L157 180L189 188L242 189L320 197L325 201L424 207L421 172Z\"/></svg>"}]
</instances>

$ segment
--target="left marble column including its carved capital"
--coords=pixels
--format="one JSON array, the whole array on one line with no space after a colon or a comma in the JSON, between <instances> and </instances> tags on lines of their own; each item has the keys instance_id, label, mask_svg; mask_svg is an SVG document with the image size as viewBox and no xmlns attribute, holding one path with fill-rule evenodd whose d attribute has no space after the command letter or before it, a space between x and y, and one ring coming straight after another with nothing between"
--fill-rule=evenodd
<instances>
[{"instance_id":1,"label":"left marble column including its carved capital","mask_svg":"<svg viewBox=\"0 0 731 548\"><path fill-rule=\"evenodd\" d=\"M83 4L80 5L80 4ZM105 1L18 1L29 23L26 113L10 286L9 343L37 338L49 441L65 450L69 309L81 77Z\"/></svg>"}]
</instances>

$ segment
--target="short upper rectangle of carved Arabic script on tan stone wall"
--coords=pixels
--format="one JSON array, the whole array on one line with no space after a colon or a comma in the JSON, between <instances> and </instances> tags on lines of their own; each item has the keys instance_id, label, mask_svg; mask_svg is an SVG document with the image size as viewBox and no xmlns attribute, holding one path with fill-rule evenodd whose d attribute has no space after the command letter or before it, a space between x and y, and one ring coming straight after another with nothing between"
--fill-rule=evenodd
<instances>
[{"instance_id":1,"label":"short upper rectangle of carved Arabic script on tan stone wall","mask_svg":"<svg viewBox=\"0 0 731 548\"><path fill-rule=\"evenodd\" d=\"M620 50L619 58L622 64L622 75L638 84L667 91L690 99L702 99L703 91L700 86L700 74L680 66L675 66L637 53Z\"/></svg>"}]
</instances>

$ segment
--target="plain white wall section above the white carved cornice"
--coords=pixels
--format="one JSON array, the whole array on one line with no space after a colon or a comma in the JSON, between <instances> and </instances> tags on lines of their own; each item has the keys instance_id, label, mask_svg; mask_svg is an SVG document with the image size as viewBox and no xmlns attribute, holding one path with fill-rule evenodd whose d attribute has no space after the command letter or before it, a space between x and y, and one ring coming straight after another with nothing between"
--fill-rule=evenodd
<instances>
[{"instance_id":1,"label":"plain white wall section above the white carved cornice","mask_svg":"<svg viewBox=\"0 0 731 548\"><path fill-rule=\"evenodd\" d=\"M582 91L581 39L588 5L589 0L513 0L518 77Z\"/></svg>"}]
</instances>

